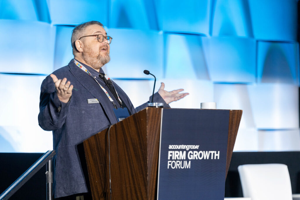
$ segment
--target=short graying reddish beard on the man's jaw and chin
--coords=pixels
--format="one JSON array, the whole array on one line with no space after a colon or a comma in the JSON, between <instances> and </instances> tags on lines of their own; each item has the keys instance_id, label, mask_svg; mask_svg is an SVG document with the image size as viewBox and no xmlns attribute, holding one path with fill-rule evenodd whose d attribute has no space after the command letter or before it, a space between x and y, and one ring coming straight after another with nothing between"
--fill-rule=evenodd
<instances>
[{"instance_id":1,"label":"short graying reddish beard on the man's jaw and chin","mask_svg":"<svg viewBox=\"0 0 300 200\"><path fill-rule=\"evenodd\" d=\"M100 69L103 65L110 61L109 53L106 53L105 56L101 56L99 52L98 55L96 55L96 53L91 52L90 49L86 52L82 52L82 58L86 64L90 65L90 67L95 70Z\"/></svg>"}]
</instances>

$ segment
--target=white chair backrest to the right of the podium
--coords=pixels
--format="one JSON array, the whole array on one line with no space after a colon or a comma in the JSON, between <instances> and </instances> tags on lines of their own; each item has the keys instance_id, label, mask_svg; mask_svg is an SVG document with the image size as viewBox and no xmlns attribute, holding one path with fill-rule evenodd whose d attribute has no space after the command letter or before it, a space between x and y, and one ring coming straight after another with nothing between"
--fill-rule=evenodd
<instances>
[{"instance_id":1,"label":"white chair backrest to the right of the podium","mask_svg":"<svg viewBox=\"0 0 300 200\"><path fill-rule=\"evenodd\" d=\"M289 171L284 164L238 166L244 197L251 200L292 200Z\"/></svg>"}]
</instances>

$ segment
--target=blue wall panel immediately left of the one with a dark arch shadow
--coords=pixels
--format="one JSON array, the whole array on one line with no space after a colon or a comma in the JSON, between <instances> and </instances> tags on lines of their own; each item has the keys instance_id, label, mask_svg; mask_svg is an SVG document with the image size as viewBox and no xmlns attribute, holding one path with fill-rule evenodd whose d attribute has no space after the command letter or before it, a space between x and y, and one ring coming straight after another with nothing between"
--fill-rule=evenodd
<instances>
[{"instance_id":1,"label":"blue wall panel immediately left of the one with a dark arch shadow","mask_svg":"<svg viewBox=\"0 0 300 200\"><path fill-rule=\"evenodd\" d=\"M202 39L208 74L212 81L255 82L255 40L242 37L203 37Z\"/></svg>"}]
</instances>

